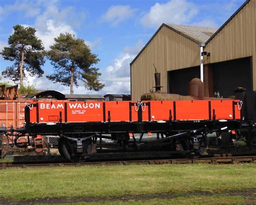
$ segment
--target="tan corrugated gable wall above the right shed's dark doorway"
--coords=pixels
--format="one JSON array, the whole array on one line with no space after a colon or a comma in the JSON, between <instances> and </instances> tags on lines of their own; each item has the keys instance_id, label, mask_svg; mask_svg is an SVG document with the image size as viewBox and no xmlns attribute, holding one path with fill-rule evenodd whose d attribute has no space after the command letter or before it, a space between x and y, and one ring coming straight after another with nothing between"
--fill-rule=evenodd
<instances>
[{"instance_id":1,"label":"tan corrugated gable wall above the right shed's dark doorway","mask_svg":"<svg viewBox=\"0 0 256 205\"><path fill-rule=\"evenodd\" d=\"M252 56L253 90L256 90L255 42L256 0L251 0L206 45L205 51L210 52L211 56L205 58L205 63L217 63Z\"/></svg>"}]
</instances>

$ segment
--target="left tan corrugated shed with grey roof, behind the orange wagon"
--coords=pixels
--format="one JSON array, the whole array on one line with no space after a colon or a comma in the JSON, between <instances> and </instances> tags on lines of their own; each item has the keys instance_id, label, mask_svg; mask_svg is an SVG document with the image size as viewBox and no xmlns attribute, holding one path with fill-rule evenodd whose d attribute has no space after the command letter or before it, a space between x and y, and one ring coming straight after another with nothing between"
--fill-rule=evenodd
<instances>
[{"instance_id":1,"label":"left tan corrugated shed with grey roof, behind the orange wagon","mask_svg":"<svg viewBox=\"0 0 256 205\"><path fill-rule=\"evenodd\" d=\"M181 90L187 90L187 83L199 77L199 45L215 31L217 29L199 26L162 24L130 64L132 100L139 100L140 95L154 86L153 64L161 73L163 91L178 93L179 89L171 86L175 79L180 83L177 88L182 86ZM193 68L193 72L190 70L190 76L184 79L182 77L187 75L188 68ZM176 70L180 71L172 72Z\"/></svg>"}]
</instances>

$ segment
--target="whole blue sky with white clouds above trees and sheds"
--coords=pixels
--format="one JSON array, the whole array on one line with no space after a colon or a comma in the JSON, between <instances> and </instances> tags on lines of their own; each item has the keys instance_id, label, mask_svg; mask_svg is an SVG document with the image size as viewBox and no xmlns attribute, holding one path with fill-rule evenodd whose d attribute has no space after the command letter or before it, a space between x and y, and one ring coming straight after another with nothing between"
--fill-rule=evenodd
<instances>
[{"instance_id":1,"label":"whole blue sky with white clouds above trees and sheds","mask_svg":"<svg viewBox=\"0 0 256 205\"><path fill-rule=\"evenodd\" d=\"M98 55L94 65L102 73L105 84L101 91L88 91L79 82L74 94L130 93L130 63L162 23L219 28L245 0L1 0L0 51L8 46L21 24L37 30L46 50L60 33L72 33L85 40L92 53ZM12 65L0 56L2 71ZM53 73L49 60L42 67L41 78L28 76L25 85L37 90L56 90L64 94L70 88L53 84L45 75ZM15 84L15 83L13 83Z\"/></svg>"}]
</instances>

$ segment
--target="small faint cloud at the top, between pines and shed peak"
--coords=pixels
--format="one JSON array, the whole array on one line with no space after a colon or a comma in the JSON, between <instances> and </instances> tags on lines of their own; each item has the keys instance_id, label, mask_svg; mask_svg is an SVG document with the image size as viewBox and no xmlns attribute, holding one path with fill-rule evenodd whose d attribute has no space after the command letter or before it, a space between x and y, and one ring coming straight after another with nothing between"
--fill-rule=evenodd
<instances>
[{"instance_id":1,"label":"small faint cloud at the top, between pines and shed peak","mask_svg":"<svg viewBox=\"0 0 256 205\"><path fill-rule=\"evenodd\" d=\"M137 9L131 9L129 5L110 6L106 13L102 15L101 21L117 25L134 16L136 11Z\"/></svg>"}]
</instances>

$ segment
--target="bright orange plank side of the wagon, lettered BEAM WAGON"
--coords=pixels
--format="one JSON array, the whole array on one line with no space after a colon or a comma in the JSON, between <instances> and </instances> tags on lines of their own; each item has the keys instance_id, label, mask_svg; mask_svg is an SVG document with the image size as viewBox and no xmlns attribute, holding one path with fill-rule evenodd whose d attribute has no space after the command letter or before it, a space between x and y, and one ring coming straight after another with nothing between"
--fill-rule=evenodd
<instances>
[{"instance_id":1,"label":"bright orange plank side of the wagon, lettered BEAM WAGON","mask_svg":"<svg viewBox=\"0 0 256 205\"><path fill-rule=\"evenodd\" d=\"M183 101L39 101L30 104L30 123L158 122L240 120L239 100ZM50 124L51 125L51 124ZM50 127L49 125L49 127Z\"/></svg>"}]
</instances>

